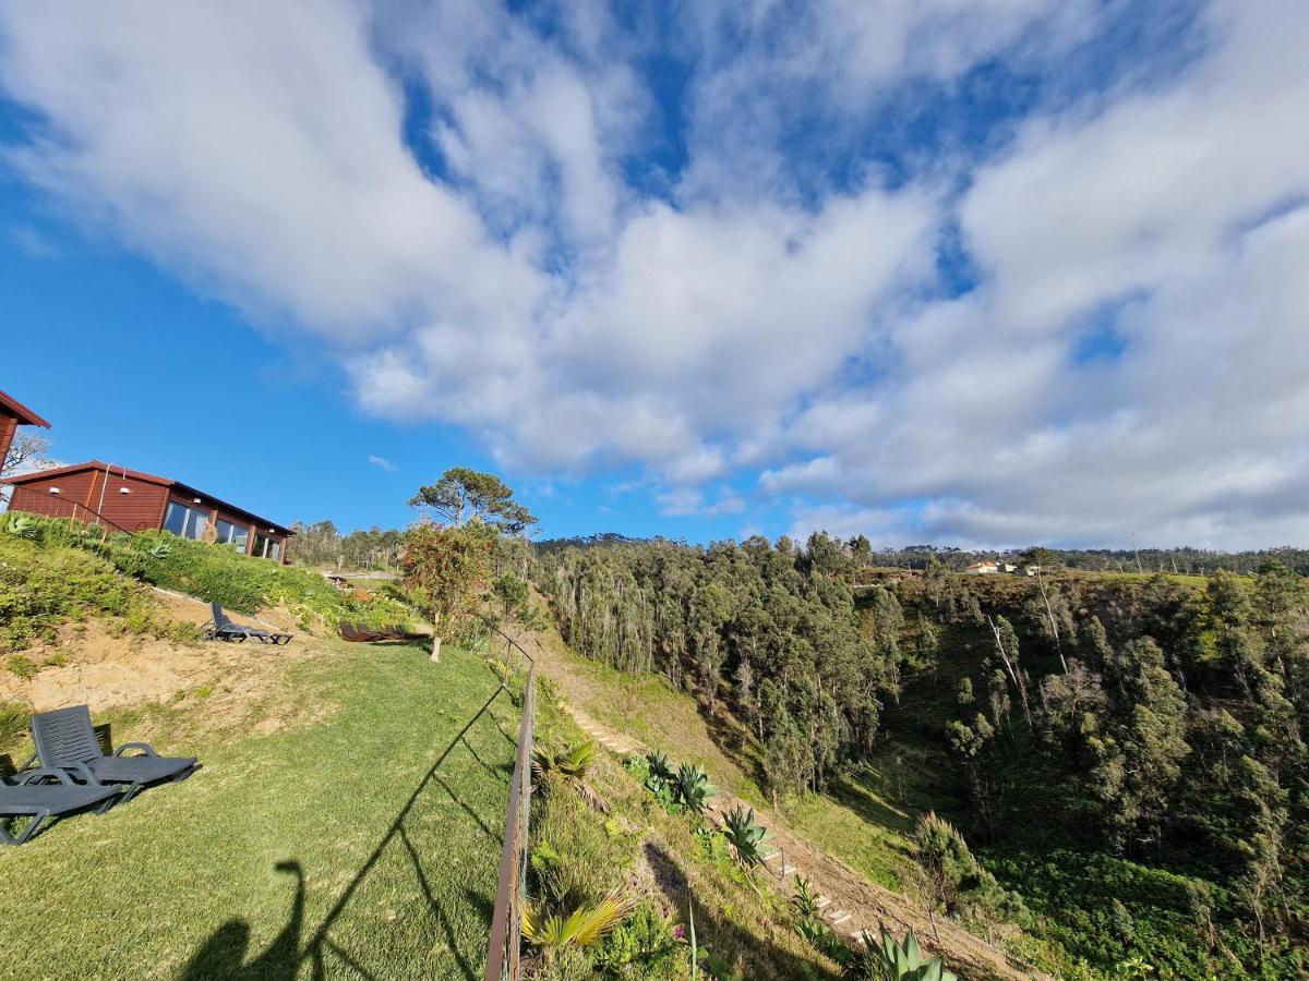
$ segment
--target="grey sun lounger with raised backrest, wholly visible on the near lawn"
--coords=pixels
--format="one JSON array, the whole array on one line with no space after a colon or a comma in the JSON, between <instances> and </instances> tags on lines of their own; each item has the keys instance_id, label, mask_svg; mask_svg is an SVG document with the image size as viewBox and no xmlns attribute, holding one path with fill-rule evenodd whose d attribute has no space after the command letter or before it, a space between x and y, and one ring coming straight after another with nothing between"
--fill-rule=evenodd
<instances>
[{"instance_id":1,"label":"grey sun lounger with raised backrest, wholly visible on the near lawn","mask_svg":"<svg viewBox=\"0 0 1309 981\"><path fill-rule=\"evenodd\" d=\"M106 756L85 705L38 712L31 717L31 739L37 744L33 760L41 760L43 768L64 770L89 786L123 785L124 800L147 783L186 780L199 769L194 756L160 756L148 743L123 743L113 756ZM137 749L140 755L123 756L127 749Z\"/></svg>"}]
</instances>

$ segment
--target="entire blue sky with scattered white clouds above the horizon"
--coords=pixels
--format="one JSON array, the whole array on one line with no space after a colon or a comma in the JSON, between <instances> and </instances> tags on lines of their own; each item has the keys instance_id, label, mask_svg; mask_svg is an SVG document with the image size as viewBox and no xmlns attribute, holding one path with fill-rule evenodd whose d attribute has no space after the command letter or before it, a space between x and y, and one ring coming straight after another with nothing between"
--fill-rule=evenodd
<instances>
[{"instance_id":1,"label":"entire blue sky with scattered white clouds above the horizon","mask_svg":"<svg viewBox=\"0 0 1309 981\"><path fill-rule=\"evenodd\" d=\"M285 521L471 463L547 535L1302 544L1305 51L1302 0L0 4L3 387Z\"/></svg>"}]
</instances>

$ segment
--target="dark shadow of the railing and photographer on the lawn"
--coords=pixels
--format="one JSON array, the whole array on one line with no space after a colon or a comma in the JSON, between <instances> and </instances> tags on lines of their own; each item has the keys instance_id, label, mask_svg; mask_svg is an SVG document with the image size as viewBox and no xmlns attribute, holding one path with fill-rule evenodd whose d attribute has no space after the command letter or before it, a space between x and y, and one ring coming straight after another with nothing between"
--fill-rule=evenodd
<instances>
[{"instance_id":1,"label":"dark shadow of the railing and photographer on the lawn","mask_svg":"<svg viewBox=\"0 0 1309 981\"><path fill-rule=\"evenodd\" d=\"M281 978L291 980L297 977L306 961L310 965L310 977L317 980L327 977L329 959L334 961L331 971L332 976L344 973L365 980L374 978L376 976L372 972L369 972L363 964L352 957L348 951L343 950L331 939L330 933L332 926L346 912L346 908L353 899L355 892L368 878L369 872L381 859L386 849L393 841L397 840L408 854L408 861L414 869L414 875L423 892L423 897L439 921L441 930L446 935L448 948L458 963L459 972L463 977L469 978L469 981L476 981L476 967L470 964L467 957L459 952L458 937L456 934L454 925L444 909L441 899L432 889L432 884L423 867L421 857L418 849L414 848L408 833L406 832L404 821L414 810L414 804L418 803L419 798L423 795L423 791L428 789L428 785L439 783L445 793L449 794L456 803L458 803L463 811L473 818L486 835L499 841L499 833L493 832L486 821L471 807L469 807L441 777L437 776L437 770L461 743L471 751L471 747L465 740L465 736L480 718L490 713L491 705L501 696L508 697L508 689L503 687L497 688L495 693L487 698L482 708L478 709L478 712L465 723L458 735L456 735L441 751L428 772L423 774L418 786L414 787L408 800L406 800L404 806L395 815L395 819L391 821L385 835L382 835L381 841L377 842L372 854L350 880L350 884L342 891L322 923L318 925L308 939L301 940L305 912L304 872L300 863L296 861L288 859L279 862L275 866L278 871L289 872L296 876L296 891L287 925L281 929L278 937L274 938L272 943L262 954L247 961L246 955L250 946L250 923L240 918L229 920L219 927L192 955L191 960L183 968L182 977L185 981L216 981L219 978L236 978L237 981L255 981L257 978L262 978L264 981L280 981ZM499 719L496 719L493 714L490 715L490 718L499 729ZM463 889L463 893L466 897L471 895L471 889ZM492 912L491 904L479 900L474 904L474 908L483 916L487 927L490 929ZM339 969L336 967L338 961L348 971Z\"/></svg>"}]
</instances>

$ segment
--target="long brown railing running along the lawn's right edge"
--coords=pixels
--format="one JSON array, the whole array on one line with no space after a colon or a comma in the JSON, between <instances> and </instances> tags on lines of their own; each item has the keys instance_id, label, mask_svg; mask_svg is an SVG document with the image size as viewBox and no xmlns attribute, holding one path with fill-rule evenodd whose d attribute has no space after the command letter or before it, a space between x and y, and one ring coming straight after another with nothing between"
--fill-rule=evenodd
<instances>
[{"instance_id":1,"label":"long brown railing running along the lawn's right edge","mask_svg":"<svg viewBox=\"0 0 1309 981\"><path fill-rule=\"evenodd\" d=\"M490 620L487 625L505 640L505 681L512 672L513 650L526 659L528 681L518 725L518 753L509 783L509 812L500 855L500 883L491 914L486 981L518 981L522 950L522 910L528 896L528 838L531 825L531 751L537 730L537 662L517 641Z\"/></svg>"}]
</instances>

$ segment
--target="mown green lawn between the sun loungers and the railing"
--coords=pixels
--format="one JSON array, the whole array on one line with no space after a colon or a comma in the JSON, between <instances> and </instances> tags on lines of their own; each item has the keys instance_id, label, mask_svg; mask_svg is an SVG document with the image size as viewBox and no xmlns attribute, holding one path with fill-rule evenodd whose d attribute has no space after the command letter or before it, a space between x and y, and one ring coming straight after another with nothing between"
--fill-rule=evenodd
<instances>
[{"instance_id":1,"label":"mown green lawn between the sun loungers and the railing","mask_svg":"<svg viewBox=\"0 0 1309 981\"><path fill-rule=\"evenodd\" d=\"M459 732L496 688L463 651L329 642L268 695L308 715L281 732L119 717L204 769L0 852L0 976L480 977L517 709Z\"/></svg>"}]
</instances>

